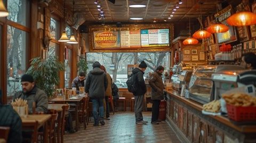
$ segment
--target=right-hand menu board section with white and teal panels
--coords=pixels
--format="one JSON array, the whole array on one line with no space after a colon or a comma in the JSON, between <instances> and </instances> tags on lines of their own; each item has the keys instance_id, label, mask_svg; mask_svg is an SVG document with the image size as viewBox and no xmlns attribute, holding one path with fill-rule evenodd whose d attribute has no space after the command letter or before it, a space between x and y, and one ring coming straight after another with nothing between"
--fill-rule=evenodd
<instances>
[{"instance_id":1,"label":"right-hand menu board section with white and teal panels","mask_svg":"<svg viewBox=\"0 0 256 143\"><path fill-rule=\"evenodd\" d=\"M169 29L142 29L140 37L141 47L170 46Z\"/></svg>"}]
</instances>

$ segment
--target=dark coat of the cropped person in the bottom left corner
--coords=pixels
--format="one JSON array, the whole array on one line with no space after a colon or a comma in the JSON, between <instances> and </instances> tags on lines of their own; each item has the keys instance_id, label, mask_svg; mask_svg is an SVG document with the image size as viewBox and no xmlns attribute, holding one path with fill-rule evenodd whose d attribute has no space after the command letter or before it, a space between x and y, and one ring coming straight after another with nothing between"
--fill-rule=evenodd
<instances>
[{"instance_id":1,"label":"dark coat of the cropped person in the bottom left corner","mask_svg":"<svg viewBox=\"0 0 256 143\"><path fill-rule=\"evenodd\" d=\"M0 126L10 127L8 143L22 142L22 122L20 116L13 110L11 105L0 104Z\"/></svg>"}]
</instances>

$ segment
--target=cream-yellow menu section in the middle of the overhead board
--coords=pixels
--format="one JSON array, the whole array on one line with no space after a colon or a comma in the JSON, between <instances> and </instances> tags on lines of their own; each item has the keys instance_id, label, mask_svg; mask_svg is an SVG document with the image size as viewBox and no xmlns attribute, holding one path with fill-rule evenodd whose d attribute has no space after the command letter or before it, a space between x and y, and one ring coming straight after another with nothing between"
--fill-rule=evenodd
<instances>
[{"instance_id":1,"label":"cream-yellow menu section in the middle of the overhead board","mask_svg":"<svg viewBox=\"0 0 256 143\"><path fill-rule=\"evenodd\" d=\"M121 48L140 47L140 30L121 31Z\"/></svg>"}]
</instances>

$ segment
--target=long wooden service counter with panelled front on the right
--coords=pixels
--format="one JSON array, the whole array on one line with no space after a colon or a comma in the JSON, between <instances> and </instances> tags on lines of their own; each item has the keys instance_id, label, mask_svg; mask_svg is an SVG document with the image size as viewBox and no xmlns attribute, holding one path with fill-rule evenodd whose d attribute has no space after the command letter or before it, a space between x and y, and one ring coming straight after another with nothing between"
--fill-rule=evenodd
<instances>
[{"instance_id":1,"label":"long wooden service counter with panelled front on the right","mask_svg":"<svg viewBox=\"0 0 256 143\"><path fill-rule=\"evenodd\" d=\"M182 142L256 142L256 125L236 125L227 117L202 114L203 105L166 92L166 119L179 132Z\"/></svg>"}]
</instances>

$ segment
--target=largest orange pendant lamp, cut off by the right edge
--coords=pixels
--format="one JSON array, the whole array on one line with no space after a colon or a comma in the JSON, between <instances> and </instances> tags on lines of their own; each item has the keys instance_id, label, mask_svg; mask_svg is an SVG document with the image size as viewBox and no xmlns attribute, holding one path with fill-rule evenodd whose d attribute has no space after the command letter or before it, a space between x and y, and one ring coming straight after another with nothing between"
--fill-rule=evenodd
<instances>
[{"instance_id":1,"label":"largest orange pendant lamp, cut off by the right edge","mask_svg":"<svg viewBox=\"0 0 256 143\"><path fill-rule=\"evenodd\" d=\"M227 19L230 26L251 26L256 24L256 14L252 12L238 12Z\"/></svg>"}]
</instances>

